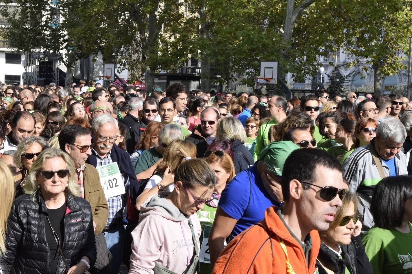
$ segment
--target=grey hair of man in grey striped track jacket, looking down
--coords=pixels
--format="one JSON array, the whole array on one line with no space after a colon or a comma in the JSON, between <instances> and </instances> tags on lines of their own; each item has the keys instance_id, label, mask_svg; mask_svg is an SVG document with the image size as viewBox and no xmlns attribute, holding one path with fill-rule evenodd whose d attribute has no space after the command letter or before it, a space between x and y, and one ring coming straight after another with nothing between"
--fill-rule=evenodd
<instances>
[{"instance_id":1,"label":"grey hair of man in grey striped track jacket, looking down","mask_svg":"<svg viewBox=\"0 0 412 274\"><path fill-rule=\"evenodd\" d=\"M382 141L404 143L406 139L405 126L396 118L388 117L382 120L376 131Z\"/></svg>"}]
</instances>

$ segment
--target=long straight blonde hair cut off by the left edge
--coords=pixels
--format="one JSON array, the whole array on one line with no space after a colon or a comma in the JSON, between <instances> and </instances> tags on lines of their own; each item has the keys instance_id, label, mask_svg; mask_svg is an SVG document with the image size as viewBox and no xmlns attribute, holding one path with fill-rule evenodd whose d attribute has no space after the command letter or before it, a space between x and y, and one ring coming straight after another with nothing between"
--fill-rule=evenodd
<instances>
[{"instance_id":1,"label":"long straight blonde hair cut off by the left edge","mask_svg":"<svg viewBox=\"0 0 412 274\"><path fill-rule=\"evenodd\" d=\"M14 200L13 175L7 164L0 160L0 193L2 193L2 205L0 207L0 255L6 251L7 218Z\"/></svg>"}]
</instances>

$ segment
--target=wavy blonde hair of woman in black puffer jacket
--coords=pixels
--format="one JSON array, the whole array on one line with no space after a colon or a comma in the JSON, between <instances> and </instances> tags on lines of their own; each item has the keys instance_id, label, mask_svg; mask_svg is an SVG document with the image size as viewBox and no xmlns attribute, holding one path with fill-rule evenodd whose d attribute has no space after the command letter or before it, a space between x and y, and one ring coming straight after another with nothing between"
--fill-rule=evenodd
<instances>
[{"instance_id":1,"label":"wavy blonde hair of woman in black puffer jacket","mask_svg":"<svg viewBox=\"0 0 412 274\"><path fill-rule=\"evenodd\" d=\"M75 179L75 163L73 162L73 159L66 152L63 152L60 149L53 147L49 147L43 150L43 152L40 153L39 157L37 157L37 159L33 161L33 165L31 166L28 173L28 179L23 187L24 193L28 195L33 195L38 191L38 184L36 179L37 175L39 175L42 172L44 163L48 159L56 157L62 158L63 161L66 162L67 169L69 170L67 181L68 192L74 197L79 196L79 185L77 184L77 181Z\"/></svg>"}]
</instances>

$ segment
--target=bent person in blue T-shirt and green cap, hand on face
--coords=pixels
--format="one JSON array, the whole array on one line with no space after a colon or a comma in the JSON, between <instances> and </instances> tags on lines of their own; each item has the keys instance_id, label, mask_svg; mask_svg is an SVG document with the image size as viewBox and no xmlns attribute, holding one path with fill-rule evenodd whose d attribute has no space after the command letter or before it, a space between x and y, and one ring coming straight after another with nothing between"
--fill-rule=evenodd
<instances>
[{"instance_id":1,"label":"bent person in blue T-shirt and green cap, hand on face","mask_svg":"<svg viewBox=\"0 0 412 274\"><path fill-rule=\"evenodd\" d=\"M299 147L291 141L273 142L262 150L260 161L236 177L222 192L209 236L211 262L231 239L265 216L265 210L283 200L280 178L289 154Z\"/></svg>"}]
</instances>

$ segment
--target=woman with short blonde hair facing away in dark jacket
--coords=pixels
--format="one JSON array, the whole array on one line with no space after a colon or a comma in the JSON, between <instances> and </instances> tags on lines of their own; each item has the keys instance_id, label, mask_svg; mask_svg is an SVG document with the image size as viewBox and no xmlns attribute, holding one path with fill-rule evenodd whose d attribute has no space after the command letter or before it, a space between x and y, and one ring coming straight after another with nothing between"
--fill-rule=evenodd
<instances>
[{"instance_id":1,"label":"woman with short blonde hair facing away in dark jacket","mask_svg":"<svg viewBox=\"0 0 412 274\"><path fill-rule=\"evenodd\" d=\"M253 165L253 157L243 145L246 142L246 131L242 123L235 117L225 117L219 120L216 128L216 140L225 139L232 143L236 174Z\"/></svg>"}]
</instances>

